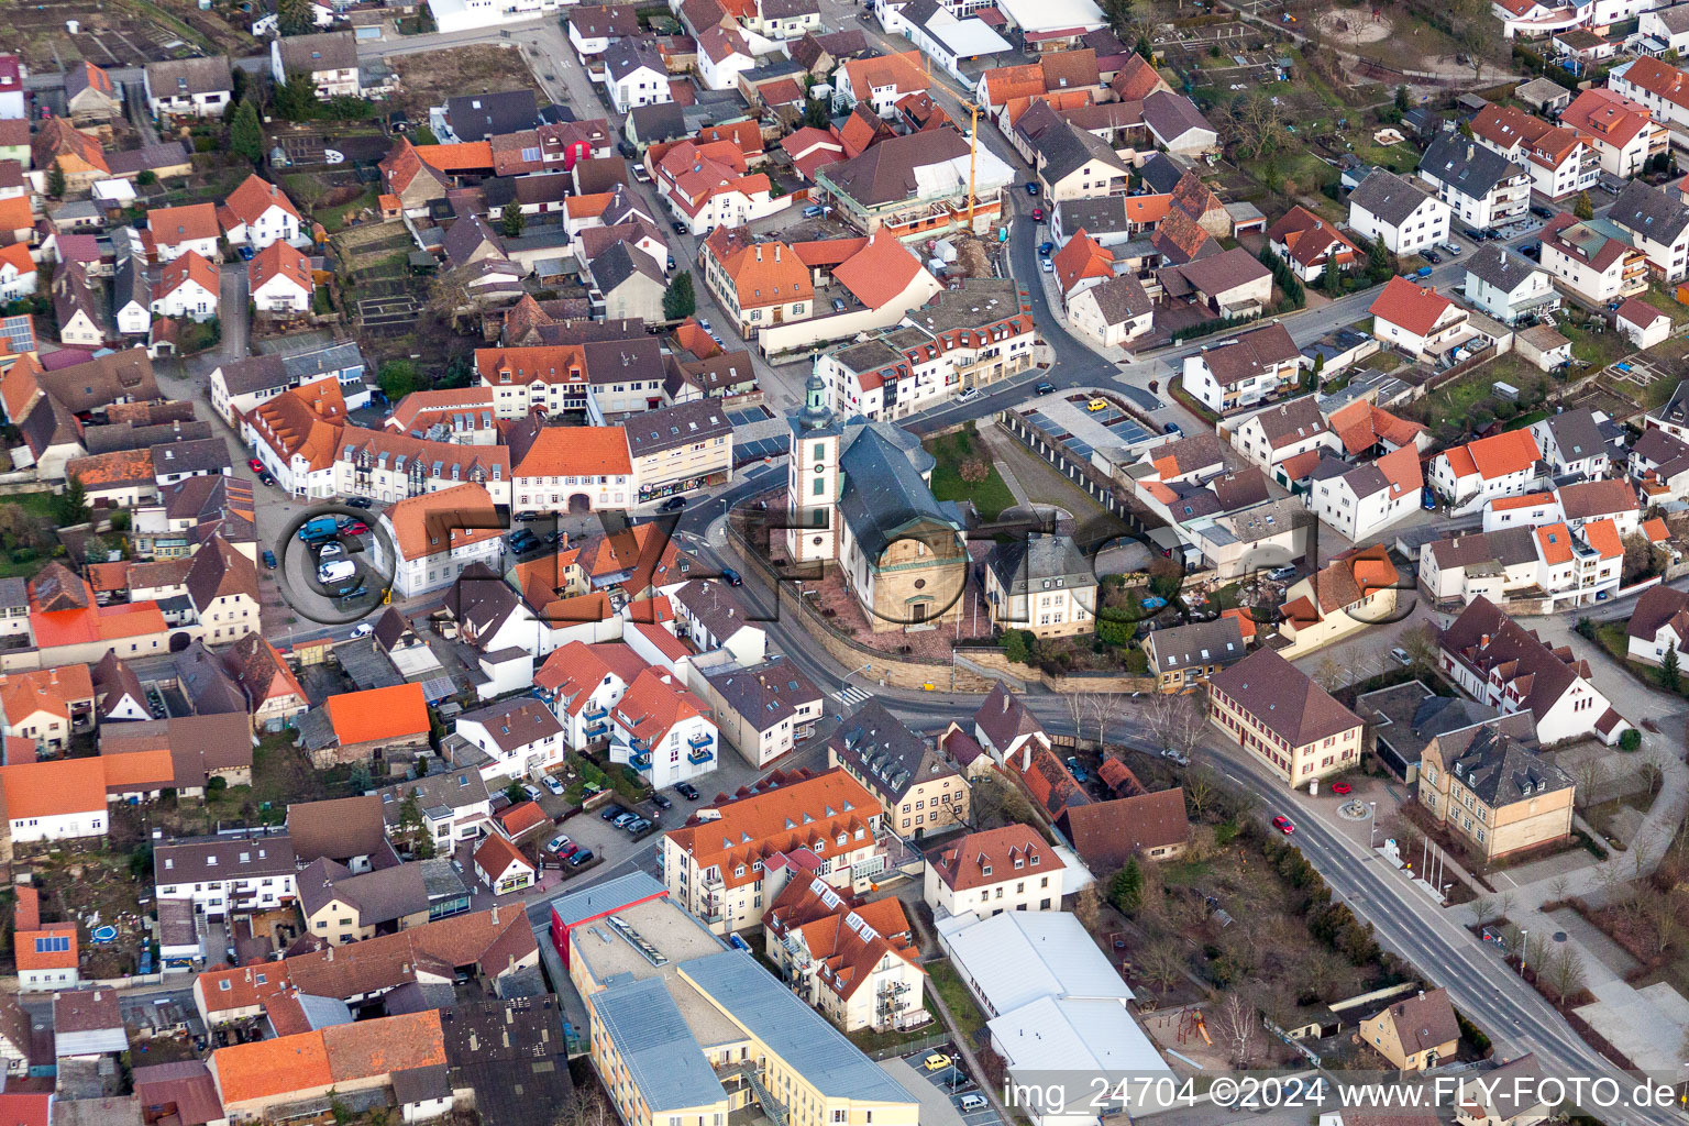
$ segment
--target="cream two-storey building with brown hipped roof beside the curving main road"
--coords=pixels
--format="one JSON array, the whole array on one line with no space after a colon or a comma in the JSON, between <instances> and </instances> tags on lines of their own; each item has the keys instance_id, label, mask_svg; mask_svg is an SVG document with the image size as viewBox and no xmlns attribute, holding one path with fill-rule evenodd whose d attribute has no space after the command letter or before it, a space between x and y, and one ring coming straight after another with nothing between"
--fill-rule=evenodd
<instances>
[{"instance_id":1,"label":"cream two-storey building with brown hipped roof beside the curving main road","mask_svg":"<svg viewBox=\"0 0 1689 1126\"><path fill-rule=\"evenodd\" d=\"M1208 679L1208 719L1292 787L1360 761L1360 716L1268 648Z\"/></svg>"}]
</instances>

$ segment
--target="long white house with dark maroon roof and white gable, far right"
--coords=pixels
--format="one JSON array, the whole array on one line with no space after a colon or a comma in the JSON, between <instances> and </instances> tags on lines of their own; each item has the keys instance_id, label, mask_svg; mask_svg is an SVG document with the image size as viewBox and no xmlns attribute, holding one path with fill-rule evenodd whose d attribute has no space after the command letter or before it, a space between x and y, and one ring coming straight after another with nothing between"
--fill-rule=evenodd
<instances>
[{"instance_id":1,"label":"long white house with dark maroon roof and white gable, far right","mask_svg":"<svg viewBox=\"0 0 1689 1126\"><path fill-rule=\"evenodd\" d=\"M1588 662L1549 648L1488 598L1439 631L1437 648L1442 672L1468 696L1502 712L1532 712L1544 746L1586 736L1611 746L1630 729L1594 687Z\"/></svg>"}]
</instances>

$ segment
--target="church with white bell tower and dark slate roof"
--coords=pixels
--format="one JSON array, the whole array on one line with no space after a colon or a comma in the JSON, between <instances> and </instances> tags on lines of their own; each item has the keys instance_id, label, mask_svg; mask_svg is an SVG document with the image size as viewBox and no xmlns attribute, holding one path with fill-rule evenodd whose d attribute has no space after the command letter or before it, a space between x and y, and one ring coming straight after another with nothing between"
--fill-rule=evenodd
<instances>
[{"instance_id":1,"label":"church with white bell tower and dark slate roof","mask_svg":"<svg viewBox=\"0 0 1689 1126\"><path fill-rule=\"evenodd\" d=\"M839 567L875 633L956 621L968 544L956 503L932 496L932 454L890 422L836 419L816 373L790 427L792 562Z\"/></svg>"}]
</instances>

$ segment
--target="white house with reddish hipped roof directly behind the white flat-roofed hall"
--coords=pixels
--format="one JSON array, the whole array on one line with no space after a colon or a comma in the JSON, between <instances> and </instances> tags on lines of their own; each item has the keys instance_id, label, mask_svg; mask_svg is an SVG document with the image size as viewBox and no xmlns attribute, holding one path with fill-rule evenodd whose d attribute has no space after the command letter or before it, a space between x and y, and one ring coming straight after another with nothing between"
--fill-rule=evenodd
<instances>
[{"instance_id":1,"label":"white house with reddish hipped roof directly behind the white flat-roofed hall","mask_svg":"<svg viewBox=\"0 0 1689 1126\"><path fill-rule=\"evenodd\" d=\"M1059 912L1067 888L1061 854L1027 826L969 832L927 864L922 898L939 918Z\"/></svg>"}]
</instances>

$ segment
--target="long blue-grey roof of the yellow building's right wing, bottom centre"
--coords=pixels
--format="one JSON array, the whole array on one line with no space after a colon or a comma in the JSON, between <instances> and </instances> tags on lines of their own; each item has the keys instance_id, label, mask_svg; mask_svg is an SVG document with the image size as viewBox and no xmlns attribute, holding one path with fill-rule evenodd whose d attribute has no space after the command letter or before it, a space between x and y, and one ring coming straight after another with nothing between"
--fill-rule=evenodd
<instances>
[{"instance_id":1,"label":"long blue-grey roof of the yellow building's right wing, bottom centre","mask_svg":"<svg viewBox=\"0 0 1689 1126\"><path fill-rule=\"evenodd\" d=\"M741 952L723 950L696 957L682 962L681 972L699 983L782 1060L802 1067L804 1075L823 1096L914 1102L914 1096L858 1052L826 1016L804 1004L797 994ZM696 1058L703 1060L701 1055Z\"/></svg>"}]
</instances>

